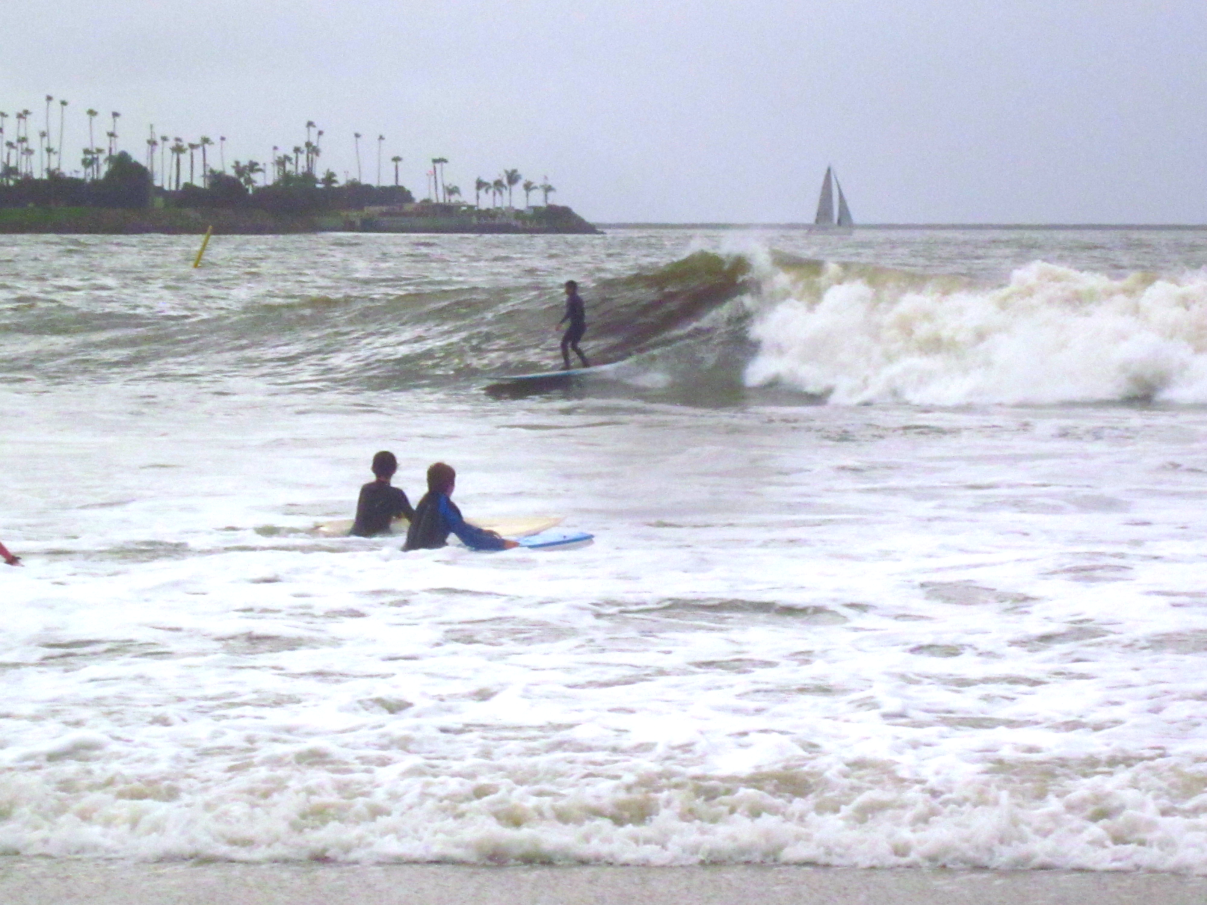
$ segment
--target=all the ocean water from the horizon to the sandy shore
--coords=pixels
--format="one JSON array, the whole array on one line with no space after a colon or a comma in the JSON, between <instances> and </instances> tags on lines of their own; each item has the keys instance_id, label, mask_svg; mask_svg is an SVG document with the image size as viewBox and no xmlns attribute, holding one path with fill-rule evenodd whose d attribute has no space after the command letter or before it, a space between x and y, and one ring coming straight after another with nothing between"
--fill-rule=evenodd
<instances>
[{"instance_id":1,"label":"all the ocean water from the horizon to the sandy shore","mask_svg":"<svg viewBox=\"0 0 1207 905\"><path fill-rule=\"evenodd\" d=\"M1207 874L1205 235L0 238L0 852Z\"/></svg>"}]
</instances>

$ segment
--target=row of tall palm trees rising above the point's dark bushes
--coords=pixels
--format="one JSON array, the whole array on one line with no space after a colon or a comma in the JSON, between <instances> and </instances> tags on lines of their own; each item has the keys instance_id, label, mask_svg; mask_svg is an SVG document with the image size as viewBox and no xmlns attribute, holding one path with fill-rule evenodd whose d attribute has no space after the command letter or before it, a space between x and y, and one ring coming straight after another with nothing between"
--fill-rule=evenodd
<instances>
[{"instance_id":1,"label":"row of tall palm trees rising above the point's dark bushes","mask_svg":"<svg viewBox=\"0 0 1207 905\"><path fill-rule=\"evenodd\" d=\"M43 128L36 133L36 144L30 129L31 117L34 117L33 111L21 110L14 115L13 118L16 128L12 139L8 139L5 132L8 113L0 111L0 150L4 151L2 164L0 164L0 182L11 181L13 179L46 179L51 175L64 175L63 148L65 146L66 109L69 106L69 101L62 98L58 101L59 128L57 141L53 134L53 121L51 116L53 103L54 97L47 94L42 122ZM100 147L95 140L94 122L100 113L93 109L88 109L84 112L88 117L88 145L83 148L80 164L86 180L98 180L103 175L104 164L117 154L117 121L122 115L116 110L109 115L111 119L111 128L104 133L106 145ZM293 176L295 179L305 176L315 185L338 185L339 180L333 170L327 169L321 176L316 174L319 159L322 156L323 134L323 129L320 129L313 119L309 119L305 124L304 142L293 145L292 148L282 148L281 146L274 145L273 154L269 158L272 160L270 168L266 168L257 160L247 160L246 163L235 160L233 167L234 177L249 188L256 185L257 176L261 180L261 185L269 185L269 181L279 182L288 176ZM363 135L361 133L352 133L354 150L356 154L357 182L363 182L361 159L362 138ZM145 144L146 152L144 160L147 170L151 173L151 180L165 189L179 191L183 185L186 185L186 180L183 179L183 160L186 154L188 156L187 183L196 183L198 157L200 158L199 162L203 179L210 179L215 175L227 173L225 135L218 136L216 145L218 151L218 167L214 169L211 169L209 164L209 150L215 147L215 142L208 135L202 135L196 141L186 141L180 136L157 134L156 128L152 125L150 127L148 138ZM374 185L378 186L381 185L384 144L385 135L379 134L377 136L377 180L374 182ZM170 163L168 160L169 154L171 156ZM390 163L393 164L393 185L398 186L398 167L403 158L395 154L389 159ZM427 171L430 197L437 203L453 203L454 198L461 197L461 189L455 185L449 185L444 179L444 165L448 163L448 158L433 157L431 162L432 169ZM346 181L351 181L351 179L348 179ZM523 176L520 176L519 170L503 170L503 173L494 181L484 180L480 176L477 179L474 183L474 206L480 206L483 193L492 197L496 206L502 204L502 198L506 193L507 206L512 206L513 189L515 186L520 185L521 181L525 206L527 206L529 198L532 192L542 192L544 195L544 203L548 205L549 194L556 191L552 185L549 185L548 176L544 177L542 183L536 183L531 180L524 180Z\"/></svg>"}]
</instances>

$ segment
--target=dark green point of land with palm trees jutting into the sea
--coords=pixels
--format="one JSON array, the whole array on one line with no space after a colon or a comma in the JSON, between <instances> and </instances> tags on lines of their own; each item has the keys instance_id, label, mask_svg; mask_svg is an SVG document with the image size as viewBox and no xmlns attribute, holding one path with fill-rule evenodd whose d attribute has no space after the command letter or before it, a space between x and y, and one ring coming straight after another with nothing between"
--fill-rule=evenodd
<instances>
[{"instance_id":1,"label":"dark green point of land with palm trees jutting into the sea","mask_svg":"<svg viewBox=\"0 0 1207 905\"><path fill-rule=\"evenodd\" d=\"M473 205L461 203L461 189L445 181L444 157L432 158L428 198L416 204L398 181L401 156L389 158L393 185L381 185L384 135L377 136L377 177L371 185L362 181L362 136L352 134L356 176L340 185L333 170L319 169L323 130L314 121L305 124L305 142L292 151L274 146L270 163L234 160L227 173L225 135L217 142L205 135L186 141L150 127L144 163L138 163L118 151L121 113L110 113L101 147L94 128L99 113L89 109L82 170L72 171L74 162L64 159L69 104L59 99L58 116L52 117L53 101L47 94L45 111L36 116L18 111L11 139L5 133L8 113L0 111L0 233L196 233L211 224L218 233L599 232L568 208L549 204L556 189L548 179L540 185L524 181L515 169L503 170L494 182L478 177ZM218 165L211 167L215 157ZM524 192L524 210L512 204L517 187ZM494 208L480 206L484 192L494 197ZM533 192L543 195L543 206L527 206Z\"/></svg>"}]
</instances>

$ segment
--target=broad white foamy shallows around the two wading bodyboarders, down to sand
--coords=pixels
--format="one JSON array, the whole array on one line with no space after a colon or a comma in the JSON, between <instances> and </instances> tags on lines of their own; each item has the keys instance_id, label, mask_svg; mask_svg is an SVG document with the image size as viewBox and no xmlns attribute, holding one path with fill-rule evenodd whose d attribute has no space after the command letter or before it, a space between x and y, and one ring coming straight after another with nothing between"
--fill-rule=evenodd
<instances>
[{"instance_id":1,"label":"broad white foamy shallows around the two wading bodyboarders, down to sand","mask_svg":"<svg viewBox=\"0 0 1207 905\"><path fill-rule=\"evenodd\" d=\"M0 390L2 852L1207 874L1202 409L138 373ZM305 533L380 448L597 541Z\"/></svg>"}]
</instances>

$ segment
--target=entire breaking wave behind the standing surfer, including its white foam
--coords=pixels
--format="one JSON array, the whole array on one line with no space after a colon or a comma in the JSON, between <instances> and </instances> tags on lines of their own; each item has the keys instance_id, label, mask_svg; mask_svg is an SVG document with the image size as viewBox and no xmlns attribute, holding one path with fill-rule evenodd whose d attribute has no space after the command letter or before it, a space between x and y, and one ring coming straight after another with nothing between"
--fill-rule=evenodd
<instances>
[{"instance_id":1,"label":"entire breaking wave behind the standing surfer, including its white foam","mask_svg":"<svg viewBox=\"0 0 1207 905\"><path fill-rule=\"evenodd\" d=\"M221 379L349 390L476 386L560 363L555 282L396 261L290 284L269 256L223 282L10 287L0 379ZM511 262L505 262L509 265ZM503 267L502 264L500 267ZM274 269L278 268L278 269ZM391 269L392 268L392 269ZM290 278L292 279L292 278ZM734 402L1207 402L1207 272L1109 276L1045 262L1004 285L768 249L696 251L584 280L594 363L626 386Z\"/></svg>"}]
</instances>

